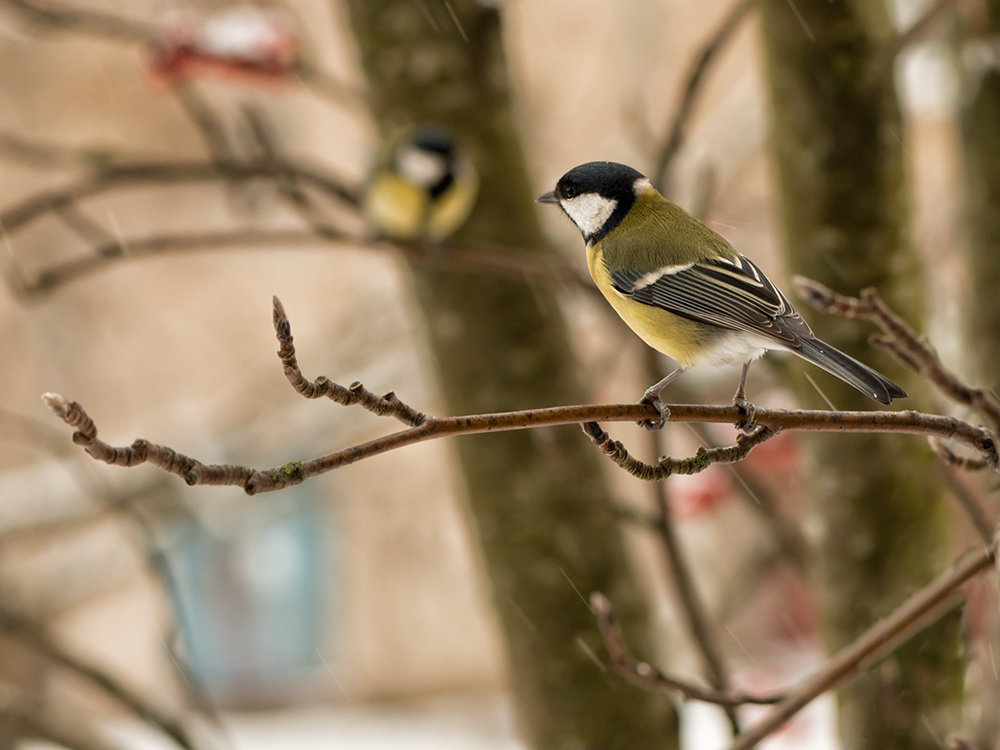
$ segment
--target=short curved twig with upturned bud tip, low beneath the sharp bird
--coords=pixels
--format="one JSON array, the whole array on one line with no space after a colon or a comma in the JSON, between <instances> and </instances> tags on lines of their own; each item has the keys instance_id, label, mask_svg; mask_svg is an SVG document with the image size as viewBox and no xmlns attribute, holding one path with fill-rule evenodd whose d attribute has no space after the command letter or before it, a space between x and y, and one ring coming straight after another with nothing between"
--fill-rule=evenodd
<instances>
[{"instance_id":1,"label":"short curved twig with upturned bud tip, low beneath the sharp bird","mask_svg":"<svg viewBox=\"0 0 1000 750\"><path fill-rule=\"evenodd\" d=\"M597 618L597 627L601 631L604 645L608 649L611 667L633 685L644 690L667 690L677 693L687 700L714 703L724 708L736 708L747 704L773 705L783 700L780 693L755 695L741 691L715 690L685 680L675 675L669 675L660 669L638 661L629 650L622 634L618 618L611 608L611 602L604 594L594 592L590 595L590 608Z\"/></svg>"}]
</instances>

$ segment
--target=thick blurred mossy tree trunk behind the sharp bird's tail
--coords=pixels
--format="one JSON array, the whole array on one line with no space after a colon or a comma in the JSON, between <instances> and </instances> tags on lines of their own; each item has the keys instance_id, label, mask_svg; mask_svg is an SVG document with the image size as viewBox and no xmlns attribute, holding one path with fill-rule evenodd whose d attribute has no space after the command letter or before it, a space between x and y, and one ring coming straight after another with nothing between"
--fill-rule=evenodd
<instances>
[{"instance_id":1,"label":"thick blurred mossy tree trunk behind the sharp bird's tail","mask_svg":"<svg viewBox=\"0 0 1000 750\"><path fill-rule=\"evenodd\" d=\"M846 293L875 286L919 330L923 285L907 240L903 125L886 57L893 37L886 8L868 0L762 0L760 8L789 266ZM815 322L821 338L919 393L867 345L868 328ZM876 407L815 369L809 375L838 408ZM799 392L818 402L810 388ZM921 441L810 436L808 444L811 512L821 524L816 571L827 640L836 649L947 564L949 512ZM841 691L845 747L940 747L939 738L957 726L960 645L956 613Z\"/></svg>"}]
</instances>

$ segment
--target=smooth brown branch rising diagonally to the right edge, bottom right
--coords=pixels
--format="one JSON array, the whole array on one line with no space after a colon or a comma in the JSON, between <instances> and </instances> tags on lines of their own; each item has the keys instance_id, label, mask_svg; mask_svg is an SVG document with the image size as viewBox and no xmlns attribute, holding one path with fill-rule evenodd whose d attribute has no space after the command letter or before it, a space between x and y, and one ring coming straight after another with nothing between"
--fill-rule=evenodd
<instances>
[{"instance_id":1,"label":"smooth brown branch rising diagonally to the right edge, bottom right","mask_svg":"<svg viewBox=\"0 0 1000 750\"><path fill-rule=\"evenodd\" d=\"M729 750L749 750L755 747L813 700L835 689L866 666L873 666L870 663L872 657L883 652L888 643L896 641L898 645L903 642L904 633L907 638L912 638L921 628L930 625L932 620L924 618L924 615L953 596L967 581L993 566L996 551L994 541L989 547L959 558L951 568L909 597L892 614L879 620L812 676L802 681L764 719L737 737ZM920 627L916 627L918 625Z\"/></svg>"}]
</instances>

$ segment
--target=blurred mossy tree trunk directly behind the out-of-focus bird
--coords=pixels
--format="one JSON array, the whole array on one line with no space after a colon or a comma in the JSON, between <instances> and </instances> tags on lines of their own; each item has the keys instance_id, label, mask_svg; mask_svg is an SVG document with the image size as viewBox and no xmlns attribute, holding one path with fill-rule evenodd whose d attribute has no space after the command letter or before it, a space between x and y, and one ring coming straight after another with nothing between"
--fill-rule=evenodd
<instances>
[{"instance_id":1,"label":"blurred mossy tree trunk directly behind the out-of-focus bird","mask_svg":"<svg viewBox=\"0 0 1000 750\"><path fill-rule=\"evenodd\" d=\"M378 125L387 133L441 123L469 148L479 202L446 252L460 253L463 239L552 252L515 128L498 12L472 0L447 5L348 3ZM426 265L411 270L451 411L584 399L554 288ZM606 591L627 623L645 626L598 452L578 427L476 436L455 447L525 738L545 750L676 747L669 700L626 686L588 656L603 649L581 596Z\"/></svg>"}]
</instances>

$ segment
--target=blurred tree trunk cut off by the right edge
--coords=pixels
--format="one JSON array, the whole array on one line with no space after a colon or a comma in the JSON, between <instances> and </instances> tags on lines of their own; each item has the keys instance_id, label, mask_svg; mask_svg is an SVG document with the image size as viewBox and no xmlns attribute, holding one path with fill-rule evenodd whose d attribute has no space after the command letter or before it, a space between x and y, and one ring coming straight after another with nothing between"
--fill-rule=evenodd
<instances>
[{"instance_id":1,"label":"blurred tree trunk cut off by the right edge","mask_svg":"<svg viewBox=\"0 0 1000 750\"><path fill-rule=\"evenodd\" d=\"M961 76L961 152L965 178L965 272L968 293L963 353L973 382L997 389L1000 383L1000 70L995 40L1000 35L1000 0L982 0L961 16L958 62ZM1000 647L1000 613L987 609L985 637ZM1000 747L1000 680L992 658L980 664L972 690L981 709L972 739ZM970 700L972 697L970 696ZM971 713L971 712L970 712Z\"/></svg>"}]
</instances>

